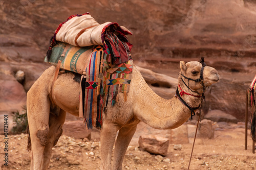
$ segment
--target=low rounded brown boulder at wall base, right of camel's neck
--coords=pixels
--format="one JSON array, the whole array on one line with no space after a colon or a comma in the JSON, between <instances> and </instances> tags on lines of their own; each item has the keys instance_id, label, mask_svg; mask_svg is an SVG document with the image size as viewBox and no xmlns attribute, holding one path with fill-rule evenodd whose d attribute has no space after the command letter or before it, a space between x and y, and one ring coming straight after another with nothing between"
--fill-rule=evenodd
<instances>
[{"instance_id":1,"label":"low rounded brown boulder at wall base, right of camel's neck","mask_svg":"<svg viewBox=\"0 0 256 170\"><path fill-rule=\"evenodd\" d=\"M205 119L209 119L212 122L231 122L238 123L238 119L230 114L227 114L221 110L211 110L205 116Z\"/></svg>"}]
</instances>

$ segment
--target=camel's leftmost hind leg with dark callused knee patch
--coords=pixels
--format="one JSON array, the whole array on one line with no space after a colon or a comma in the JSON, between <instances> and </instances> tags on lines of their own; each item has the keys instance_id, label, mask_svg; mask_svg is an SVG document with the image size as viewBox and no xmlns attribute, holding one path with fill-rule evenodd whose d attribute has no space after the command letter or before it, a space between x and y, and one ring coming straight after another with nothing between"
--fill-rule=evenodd
<instances>
[{"instance_id":1,"label":"camel's leftmost hind leg with dark callused knee patch","mask_svg":"<svg viewBox=\"0 0 256 170\"><path fill-rule=\"evenodd\" d=\"M49 135L50 101L47 95L30 90L27 95L27 112L32 149L30 169L40 169Z\"/></svg>"}]
</instances>

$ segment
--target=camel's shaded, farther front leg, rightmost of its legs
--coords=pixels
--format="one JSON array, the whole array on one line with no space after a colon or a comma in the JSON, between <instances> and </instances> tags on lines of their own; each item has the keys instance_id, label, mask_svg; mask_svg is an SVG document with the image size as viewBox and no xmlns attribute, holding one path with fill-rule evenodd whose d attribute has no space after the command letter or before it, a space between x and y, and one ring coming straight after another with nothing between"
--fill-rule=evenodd
<instances>
[{"instance_id":1,"label":"camel's shaded, farther front leg, rightmost of its legs","mask_svg":"<svg viewBox=\"0 0 256 170\"><path fill-rule=\"evenodd\" d=\"M136 131L137 125L132 127L122 127L119 130L114 151L114 160L113 160L113 169L120 170L122 169L122 163L124 154L129 146L130 141L133 138L133 135Z\"/></svg>"}]
</instances>

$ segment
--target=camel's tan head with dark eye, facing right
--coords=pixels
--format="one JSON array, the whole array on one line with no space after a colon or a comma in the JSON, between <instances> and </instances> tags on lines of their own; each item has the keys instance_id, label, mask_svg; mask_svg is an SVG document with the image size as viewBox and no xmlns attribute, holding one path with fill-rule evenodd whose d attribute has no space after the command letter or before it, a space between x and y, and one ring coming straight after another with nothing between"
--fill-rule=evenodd
<instances>
[{"instance_id":1,"label":"camel's tan head with dark eye, facing right","mask_svg":"<svg viewBox=\"0 0 256 170\"><path fill-rule=\"evenodd\" d=\"M206 66L204 58L200 62L191 61L185 63L180 61L180 78L191 90L202 92L203 84L208 87L220 80L220 75L215 68ZM203 83L202 83L203 82Z\"/></svg>"}]
</instances>

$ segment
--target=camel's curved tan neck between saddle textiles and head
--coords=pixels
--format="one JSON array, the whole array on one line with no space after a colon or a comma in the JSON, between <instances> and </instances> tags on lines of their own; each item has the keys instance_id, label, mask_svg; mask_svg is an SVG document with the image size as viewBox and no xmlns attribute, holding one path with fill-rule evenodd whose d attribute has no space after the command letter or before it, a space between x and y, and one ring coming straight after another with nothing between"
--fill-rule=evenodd
<instances>
[{"instance_id":1,"label":"camel's curved tan neck between saddle textiles and head","mask_svg":"<svg viewBox=\"0 0 256 170\"><path fill-rule=\"evenodd\" d=\"M165 100L158 96L144 81L140 72L133 70L133 111L142 122L156 129L174 129L190 117L190 110L174 96ZM183 87L183 85L181 85ZM201 99L183 95L182 99L191 107L199 106Z\"/></svg>"}]
</instances>

